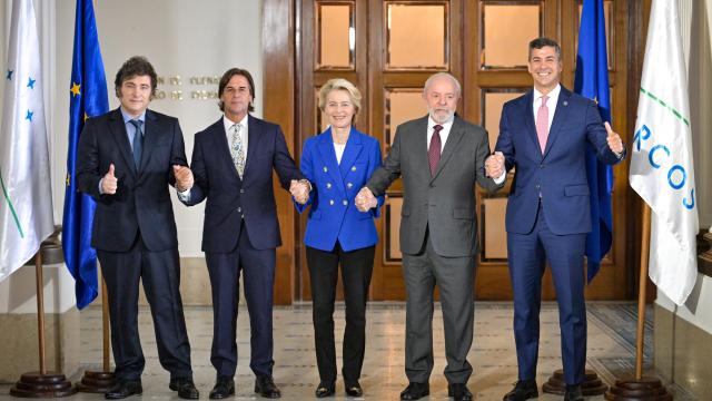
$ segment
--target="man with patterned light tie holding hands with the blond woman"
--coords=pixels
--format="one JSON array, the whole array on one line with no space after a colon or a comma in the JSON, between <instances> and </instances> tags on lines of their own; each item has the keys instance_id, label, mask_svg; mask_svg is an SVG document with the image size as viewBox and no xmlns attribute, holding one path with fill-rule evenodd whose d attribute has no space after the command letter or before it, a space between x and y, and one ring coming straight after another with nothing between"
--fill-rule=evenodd
<instances>
[{"instance_id":1,"label":"man with patterned light tie holding hands with the blond woman","mask_svg":"<svg viewBox=\"0 0 712 401\"><path fill-rule=\"evenodd\" d=\"M179 194L181 202L191 206L207 198L202 251L212 286L210 361L217 371L210 399L235 393L240 271L249 311L255 392L279 398L273 380L271 312L275 250L281 238L273 169L281 186L297 198L308 196L310 186L289 156L279 126L249 115L254 110L255 84L247 70L227 70L218 95L225 116L196 134L190 169L177 173L189 188Z\"/></svg>"}]
</instances>

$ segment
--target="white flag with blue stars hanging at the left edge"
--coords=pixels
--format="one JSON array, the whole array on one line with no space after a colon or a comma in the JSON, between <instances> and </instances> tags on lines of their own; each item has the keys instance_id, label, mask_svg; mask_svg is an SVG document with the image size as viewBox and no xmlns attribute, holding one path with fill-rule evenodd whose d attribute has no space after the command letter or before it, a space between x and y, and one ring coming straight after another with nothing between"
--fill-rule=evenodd
<instances>
[{"instance_id":1,"label":"white flag with blue stars hanging at the left edge","mask_svg":"<svg viewBox=\"0 0 712 401\"><path fill-rule=\"evenodd\" d=\"M0 281L55 228L40 49L31 0L12 2L0 129Z\"/></svg>"}]
</instances>

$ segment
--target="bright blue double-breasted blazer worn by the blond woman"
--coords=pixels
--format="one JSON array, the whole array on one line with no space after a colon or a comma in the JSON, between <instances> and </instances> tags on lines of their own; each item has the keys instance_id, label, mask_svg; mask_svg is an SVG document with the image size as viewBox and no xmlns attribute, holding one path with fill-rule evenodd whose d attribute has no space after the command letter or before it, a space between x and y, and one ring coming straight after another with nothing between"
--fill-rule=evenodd
<instances>
[{"instance_id":1,"label":"bright blue double-breasted blazer worn by the blond woman","mask_svg":"<svg viewBox=\"0 0 712 401\"><path fill-rule=\"evenodd\" d=\"M342 248L348 252L378 242L374 218L379 216L384 197L379 196L378 206L368 212L358 212L354 204L356 195L378 167L378 140L353 127L340 164L336 162L330 128L305 141L300 168L313 190L305 205L295 205L299 213L312 205L304 238L307 246L332 251L338 239Z\"/></svg>"}]
</instances>

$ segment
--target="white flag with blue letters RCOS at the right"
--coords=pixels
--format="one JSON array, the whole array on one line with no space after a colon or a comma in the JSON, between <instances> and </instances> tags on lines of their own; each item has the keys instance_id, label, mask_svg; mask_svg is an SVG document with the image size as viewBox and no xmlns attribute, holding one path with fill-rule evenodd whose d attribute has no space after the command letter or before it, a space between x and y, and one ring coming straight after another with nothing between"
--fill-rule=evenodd
<instances>
[{"instance_id":1,"label":"white flag with blue letters RCOS at the right","mask_svg":"<svg viewBox=\"0 0 712 401\"><path fill-rule=\"evenodd\" d=\"M678 2L653 0L631 186L650 205L650 277L682 305L698 277L692 133Z\"/></svg>"}]
</instances>

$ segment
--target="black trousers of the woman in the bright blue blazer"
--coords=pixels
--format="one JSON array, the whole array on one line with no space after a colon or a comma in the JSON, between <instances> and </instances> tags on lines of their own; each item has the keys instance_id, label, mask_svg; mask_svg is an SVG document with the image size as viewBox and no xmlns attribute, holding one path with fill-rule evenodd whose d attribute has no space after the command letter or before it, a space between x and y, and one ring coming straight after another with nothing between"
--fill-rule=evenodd
<instances>
[{"instance_id":1,"label":"black trousers of the woman in the bright blue blazer","mask_svg":"<svg viewBox=\"0 0 712 401\"><path fill-rule=\"evenodd\" d=\"M375 246L352 252L342 250L339 243L326 252L307 246L307 264L312 280L314 302L314 341L319 378L323 382L336 381L336 346L334 344L334 301L338 266L346 301L346 329L344 330L344 366L346 384L360 378L366 349L366 302L374 270Z\"/></svg>"}]
</instances>

